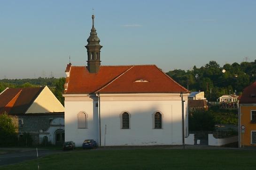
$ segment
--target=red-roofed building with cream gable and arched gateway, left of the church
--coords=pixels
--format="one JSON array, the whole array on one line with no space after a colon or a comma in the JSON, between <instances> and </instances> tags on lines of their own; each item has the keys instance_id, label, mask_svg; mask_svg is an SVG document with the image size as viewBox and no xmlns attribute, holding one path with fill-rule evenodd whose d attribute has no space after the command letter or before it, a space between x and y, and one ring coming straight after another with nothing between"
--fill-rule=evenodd
<instances>
[{"instance_id":1,"label":"red-roofed building with cream gable and arched gateway, left of the church","mask_svg":"<svg viewBox=\"0 0 256 170\"><path fill-rule=\"evenodd\" d=\"M13 118L19 136L30 133L34 144L47 138L53 144L64 140L64 107L46 87L7 88L0 93L0 114Z\"/></svg>"}]
</instances>

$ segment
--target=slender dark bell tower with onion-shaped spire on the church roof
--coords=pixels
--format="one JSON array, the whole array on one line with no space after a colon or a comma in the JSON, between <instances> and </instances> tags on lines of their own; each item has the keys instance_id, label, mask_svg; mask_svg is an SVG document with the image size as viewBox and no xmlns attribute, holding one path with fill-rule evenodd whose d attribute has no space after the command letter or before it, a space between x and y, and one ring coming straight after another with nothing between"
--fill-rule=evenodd
<instances>
[{"instance_id":1,"label":"slender dark bell tower with onion-shaped spire on the church roof","mask_svg":"<svg viewBox=\"0 0 256 170\"><path fill-rule=\"evenodd\" d=\"M90 73L97 73L101 65L101 48L100 38L97 36L94 28L94 15L92 15L93 27L91 29L90 37L87 39L87 69Z\"/></svg>"}]
</instances>

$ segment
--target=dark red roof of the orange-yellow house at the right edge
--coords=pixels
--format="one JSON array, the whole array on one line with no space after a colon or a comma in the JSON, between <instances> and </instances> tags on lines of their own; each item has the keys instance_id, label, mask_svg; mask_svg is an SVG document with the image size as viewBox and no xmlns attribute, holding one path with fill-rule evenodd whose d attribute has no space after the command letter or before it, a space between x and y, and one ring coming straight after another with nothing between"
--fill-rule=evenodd
<instances>
[{"instance_id":1,"label":"dark red roof of the orange-yellow house at the right edge","mask_svg":"<svg viewBox=\"0 0 256 170\"><path fill-rule=\"evenodd\" d=\"M243 89L239 100L240 103L256 103L256 82Z\"/></svg>"}]
</instances>

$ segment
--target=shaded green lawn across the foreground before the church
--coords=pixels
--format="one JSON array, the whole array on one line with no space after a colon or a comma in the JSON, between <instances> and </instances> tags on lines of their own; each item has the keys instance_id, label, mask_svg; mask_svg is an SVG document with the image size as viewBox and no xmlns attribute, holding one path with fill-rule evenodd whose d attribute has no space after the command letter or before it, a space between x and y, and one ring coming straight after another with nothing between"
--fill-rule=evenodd
<instances>
[{"instance_id":1,"label":"shaded green lawn across the foreground before the church","mask_svg":"<svg viewBox=\"0 0 256 170\"><path fill-rule=\"evenodd\" d=\"M255 170L256 150L78 150L39 159L40 170ZM37 170L37 160L0 167Z\"/></svg>"}]
</instances>

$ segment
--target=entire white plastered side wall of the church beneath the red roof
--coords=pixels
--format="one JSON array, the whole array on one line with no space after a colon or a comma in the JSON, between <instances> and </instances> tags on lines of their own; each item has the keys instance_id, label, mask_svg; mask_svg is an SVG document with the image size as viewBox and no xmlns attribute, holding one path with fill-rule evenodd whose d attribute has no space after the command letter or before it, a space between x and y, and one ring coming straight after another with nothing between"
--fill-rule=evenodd
<instances>
[{"instance_id":1,"label":"entire white plastered side wall of the church beneath the red roof","mask_svg":"<svg viewBox=\"0 0 256 170\"><path fill-rule=\"evenodd\" d=\"M65 140L81 146L85 139L99 143L98 97L65 96ZM187 95L184 95L185 136L188 134ZM78 128L77 114L88 114L88 126ZM121 114L130 114L130 129L121 128ZM153 114L163 115L163 128L154 129ZM101 94L101 146L182 144L181 98L179 94ZM105 132L106 127L106 132Z\"/></svg>"}]
</instances>

